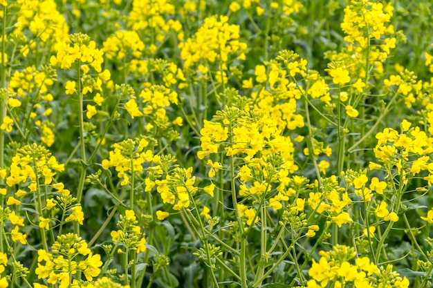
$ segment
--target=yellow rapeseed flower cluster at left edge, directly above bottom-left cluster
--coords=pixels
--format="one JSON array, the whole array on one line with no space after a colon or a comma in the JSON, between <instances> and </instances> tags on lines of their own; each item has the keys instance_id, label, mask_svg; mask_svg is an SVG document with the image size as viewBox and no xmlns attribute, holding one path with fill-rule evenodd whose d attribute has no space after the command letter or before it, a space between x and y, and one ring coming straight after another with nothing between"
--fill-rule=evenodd
<instances>
[{"instance_id":1,"label":"yellow rapeseed flower cluster at left edge, directly above bottom-left cluster","mask_svg":"<svg viewBox=\"0 0 433 288\"><path fill-rule=\"evenodd\" d=\"M53 155L50 154L43 146L26 145L20 148L17 155L12 158L10 169L2 169L0 177L6 180L6 184L10 187L17 186L17 192L14 196L9 196L6 204L21 205L26 204L23 200L26 195L30 198L37 199L37 211L39 213L39 228L50 229L51 220L55 219L54 207L59 207L62 210L62 219L56 220L59 222L74 221L83 224L84 213L82 212L81 204L76 203L76 198L72 198L71 191L64 188L62 182L53 183L53 177L56 172L64 171L64 164L58 164ZM42 186L47 192L42 206L41 191ZM50 189L50 190L48 190ZM8 189L0 189L0 193L6 195ZM54 196L57 196L54 198ZM28 204L33 205L33 204ZM48 215L48 216L47 216ZM9 216L12 224L17 225L12 231L12 241L17 241L25 244L26 238L18 232L18 226L24 226L23 221L19 216L15 215L15 211ZM60 223L62 226L63 223Z\"/></svg>"}]
</instances>

